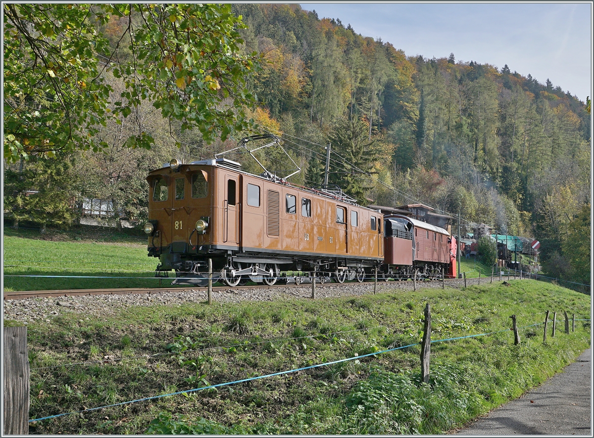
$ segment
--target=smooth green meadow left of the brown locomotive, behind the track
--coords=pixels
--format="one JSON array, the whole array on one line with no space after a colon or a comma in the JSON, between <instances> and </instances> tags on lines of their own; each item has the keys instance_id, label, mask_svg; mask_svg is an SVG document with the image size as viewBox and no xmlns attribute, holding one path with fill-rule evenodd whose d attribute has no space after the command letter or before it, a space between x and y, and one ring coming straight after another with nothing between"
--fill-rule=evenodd
<instances>
[{"instance_id":1,"label":"smooth green meadow left of the brown locomotive, behind the track","mask_svg":"<svg viewBox=\"0 0 594 438\"><path fill-rule=\"evenodd\" d=\"M38 232L5 230L4 291L159 286L153 278L159 261L147 256L146 239L108 234L106 239L72 242L61 237L42 240Z\"/></svg>"}]
</instances>

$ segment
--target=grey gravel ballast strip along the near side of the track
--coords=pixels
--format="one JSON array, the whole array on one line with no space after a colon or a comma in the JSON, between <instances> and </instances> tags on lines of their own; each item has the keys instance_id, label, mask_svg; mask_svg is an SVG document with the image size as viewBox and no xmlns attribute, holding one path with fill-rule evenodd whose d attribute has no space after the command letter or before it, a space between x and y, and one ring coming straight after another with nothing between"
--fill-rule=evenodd
<instances>
[{"instance_id":1,"label":"grey gravel ballast strip along the near side of the track","mask_svg":"<svg viewBox=\"0 0 594 438\"><path fill-rule=\"evenodd\" d=\"M485 281L485 279L482 279ZM482 282L481 281L481 282ZM494 280L495 281L495 280ZM476 284L477 279L467 279L467 284ZM449 288L463 287L463 280L452 280L445 283ZM441 288L438 281L418 282L417 287ZM378 283L377 292L392 290L412 290L412 281L390 281ZM347 285L316 285L316 298L360 296L372 294L373 283L349 283ZM238 303L240 301L273 301L283 299L311 298L311 284L303 287L279 287L242 289L241 287L213 291L213 300L217 303ZM4 319L17 320L23 323L50 322L53 316L77 312L100 316L113 313L114 310L129 306L152 306L154 304L176 305L206 301L205 290L172 289L159 294L131 295L87 295L58 298L30 298L26 300L4 300Z\"/></svg>"}]
</instances>

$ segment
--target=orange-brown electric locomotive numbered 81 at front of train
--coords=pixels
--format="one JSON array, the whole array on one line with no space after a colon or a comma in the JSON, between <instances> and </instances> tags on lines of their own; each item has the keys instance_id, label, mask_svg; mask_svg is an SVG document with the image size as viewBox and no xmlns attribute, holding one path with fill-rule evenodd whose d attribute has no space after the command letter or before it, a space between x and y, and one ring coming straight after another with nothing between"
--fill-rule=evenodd
<instances>
[{"instance_id":1,"label":"orange-brown electric locomotive numbered 81 at front of train","mask_svg":"<svg viewBox=\"0 0 594 438\"><path fill-rule=\"evenodd\" d=\"M383 262L383 215L340 193L249 174L226 158L174 158L147 180L149 256L159 258L157 275L173 269L179 283L203 285L208 259L230 286L272 285L302 269L363 281Z\"/></svg>"}]
</instances>

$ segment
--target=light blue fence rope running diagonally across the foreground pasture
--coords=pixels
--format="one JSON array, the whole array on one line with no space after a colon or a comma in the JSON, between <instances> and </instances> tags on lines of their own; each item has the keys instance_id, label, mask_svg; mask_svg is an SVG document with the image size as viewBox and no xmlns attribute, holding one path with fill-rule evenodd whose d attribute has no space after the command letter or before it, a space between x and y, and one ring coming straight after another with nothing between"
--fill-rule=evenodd
<instances>
[{"instance_id":1,"label":"light blue fence rope running diagonally across the foreground pasture","mask_svg":"<svg viewBox=\"0 0 594 438\"><path fill-rule=\"evenodd\" d=\"M541 324L543 324L543 323L541 322L541 323L533 324L533 325L530 325L530 326L541 325ZM530 327L530 326L526 326L526 327ZM524 327L522 327L522 328L524 328ZM457 338L437 339L435 341L431 341L431 344L433 344L435 342L455 341L456 339L466 339L466 338L475 338L475 337L479 337L479 336L494 335L494 334L498 334L498 333L508 332L510 330L511 329L504 329L504 330L490 332L490 333L481 333L481 334L478 334L478 335L468 335L468 336L462 336L462 337L457 337ZM90 412L90 411L96 411L96 410L99 410L99 409L112 408L112 407L116 407L116 406L123 406L123 405L128 405L128 404L132 404L132 403L141 402L141 401L149 401L149 400L159 399L159 398L163 398L163 397L169 397L169 396L173 396L173 395L181 395L181 394L184 394L184 393L191 393L191 392L203 391L204 389L220 388L221 386L229 386L229 385L235 385L236 383L251 382L253 380L266 379L267 377L282 376L282 375L285 375L285 374L296 373L296 372L299 372L299 371L310 370L310 369L314 369L314 368L318 368L318 367L323 367L323 366L328 366L328 365L334 365L334 364L337 364L337 363L347 362L347 361L350 361L350 360L359 360L362 357L369 357L369 356L376 356L378 354L390 353L391 351L402 350L403 348L415 347L415 345L421 345L421 343L420 342L416 342L415 344L404 345L402 347L396 347L396 348L389 348L388 350L376 351L375 353L362 354L361 356L353 356L353 357L348 357L348 358L345 358L345 359L334 360L334 361L331 361L331 362L325 362L325 363L311 365L311 366L307 366L307 367L296 368L296 369L286 370L286 371L280 371L280 372L271 373L271 374L264 374L263 376L249 377L248 379L233 380L233 382L217 383L216 385L208 385L208 386L203 386L201 388L187 389L186 391L171 392L171 393L168 393L168 394L154 395L154 396L150 396L150 397L139 398L139 399L135 399L135 400L129 400L129 401L125 401L125 402L119 402L119 403L114 403L114 404L110 404L110 405L99 406L99 407L95 407L95 408L87 408L87 409L80 410L80 411L64 412L62 414L49 415L48 417L33 418L33 419L29 420L29 423L33 423L33 422L36 422L36 421L42 421L42 420L49 420L50 418L64 417L65 415L81 414L83 412Z\"/></svg>"}]
</instances>

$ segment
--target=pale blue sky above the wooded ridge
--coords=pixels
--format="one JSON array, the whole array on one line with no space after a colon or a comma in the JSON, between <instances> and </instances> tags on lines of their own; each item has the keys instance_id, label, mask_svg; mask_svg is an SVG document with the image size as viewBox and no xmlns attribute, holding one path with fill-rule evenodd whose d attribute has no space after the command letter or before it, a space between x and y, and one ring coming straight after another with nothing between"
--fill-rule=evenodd
<instances>
[{"instance_id":1,"label":"pale blue sky above the wooded ridge","mask_svg":"<svg viewBox=\"0 0 594 438\"><path fill-rule=\"evenodd\" d=\"M592 97L592 4L486 2L300 3L406 56L491 64Z\"/></svg>"}]
</instances>

